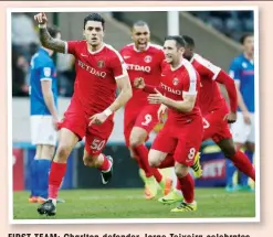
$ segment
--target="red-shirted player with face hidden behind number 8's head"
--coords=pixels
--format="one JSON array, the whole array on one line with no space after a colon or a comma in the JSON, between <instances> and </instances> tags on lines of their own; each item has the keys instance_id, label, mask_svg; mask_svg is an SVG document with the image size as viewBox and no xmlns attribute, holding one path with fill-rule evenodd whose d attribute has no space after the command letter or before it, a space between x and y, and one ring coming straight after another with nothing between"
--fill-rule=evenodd
<instances>
[{"instance_id":1,"label":"red-shirted player with face hidden behind number 8's head","mask_svg":"<svg viewBox=\"0 0 273 237\"><path fill-rule=\"evenodd\" d=\"M203 141L212 139L222 150L224 157L244 174L255 181L255 171L248 157L235 150L229 123L237 120L237 89L234 80L220 67L213 65L199 54L195 53L195 41L188 35L183 57L187 58L201 78L199 106L203 116ZM220 93L219 84L222 84L229 95L230 106ZM174 203L181 200L180 192L171 192L159 198L161 203Z\"/></svg>"}]
</instances>

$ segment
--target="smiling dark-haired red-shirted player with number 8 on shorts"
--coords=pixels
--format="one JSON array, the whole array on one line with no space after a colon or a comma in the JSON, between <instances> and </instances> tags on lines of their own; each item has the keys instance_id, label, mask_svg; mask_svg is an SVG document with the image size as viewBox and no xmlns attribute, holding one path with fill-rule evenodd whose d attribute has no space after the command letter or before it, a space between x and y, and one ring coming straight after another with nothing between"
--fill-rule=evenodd
<instances>
[{"instance_id":1,"label":"smiling dark-haired red-shirted player with number 8 on shorts","mask_svg":"<svg viewBox=\"0 0 273 237\"><path fill-rule=\"evenodd\" d=\"M149 151L149 164L156 168L175 165L177 188L185 200L171 212L193 212L195 182L189 169L200 149L203 137L202 116L198 104L200 77L193 66L182 57L185 41L181 36L167 36L164 43L166 62L162 65L160 89L136 78L134 86L150 93L149 104L168 107L168 119L158 132Z\"/></svg>"}]
</instances>

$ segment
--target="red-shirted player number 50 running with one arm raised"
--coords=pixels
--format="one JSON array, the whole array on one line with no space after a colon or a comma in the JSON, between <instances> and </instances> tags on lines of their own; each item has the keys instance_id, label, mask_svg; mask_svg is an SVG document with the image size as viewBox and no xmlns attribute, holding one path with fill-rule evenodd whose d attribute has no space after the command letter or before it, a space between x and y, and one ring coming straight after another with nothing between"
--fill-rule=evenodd
<instances>
[{"instance_id":1,"label":"red-shirted player number 50 running with one arm raised","mask_svg":"<svg viewBox=\"0 0 273 237\"><path fill-rule=\"evenodd\" d=\"M105 20L98 13L84 19L85 40L61 41L50 36L46 15L34 17L44 47L75 56L76 79L71 104L60 123L60 141L49 179L49 200L38 212L55 215L60 184L66 171L66 160L85 137L84 164L101 170L102 182L109 182L113 159L102 153L113 130L113 115L132 97L132 86L120 54L104 43ZM115 96L116 87L120 90Z\"/></svg>"}]
</instances>

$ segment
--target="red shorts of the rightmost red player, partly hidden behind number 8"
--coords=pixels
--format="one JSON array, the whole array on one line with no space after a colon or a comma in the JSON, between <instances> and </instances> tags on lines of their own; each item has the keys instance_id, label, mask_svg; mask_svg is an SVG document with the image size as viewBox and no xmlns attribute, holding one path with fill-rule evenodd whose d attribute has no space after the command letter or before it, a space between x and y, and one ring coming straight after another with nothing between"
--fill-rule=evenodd
<instances>
[{"instance_id":1,"label":"red shorts of the rightmost red player, partly hidden behind number 8","mask_svg":"<svg viewBox=\"0 0 273 237\"><path fill-rule=\"evenodd\" d=\"M216 143L232 138L229 123L224 117L225 109L217 109L203 116L203 141L212 139Z\"/></svg>"}]
</instances>

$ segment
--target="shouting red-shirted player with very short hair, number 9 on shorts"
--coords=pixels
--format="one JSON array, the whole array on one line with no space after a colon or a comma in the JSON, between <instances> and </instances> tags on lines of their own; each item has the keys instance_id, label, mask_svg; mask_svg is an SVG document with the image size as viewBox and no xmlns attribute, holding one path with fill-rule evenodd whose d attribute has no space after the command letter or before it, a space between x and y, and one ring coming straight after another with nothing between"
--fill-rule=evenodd
<instances>
[{"instance_id":1,"label":"shouting red-shirted player with very short hair, number 9 on shorts","mask_svg":"<svg viewBox=\"0 0 273 237\"><path fill-rule=\"evenodd\" d=\"M143 21L133 24L132 39L134 43L125 45L120 50L130 82L141 77L146 84L158 86L161 63L165 60L162 47L149 42L149 26ZM145 196L150 200L156 196L158 190L155 180L165 195L171 188L171 180L164 179L158 169L150 168L148 163L148 149L145 142L148 140L150 131L159 123L157 117L159 105L149 105L147 97L148 94L133 87L133 97L124 110L124 136L132 158L145 172L145 176L141 175L145 182Z\"/></svg>"}]
</instances>

